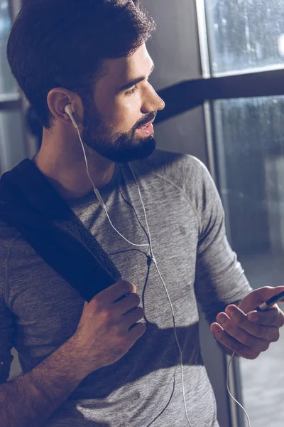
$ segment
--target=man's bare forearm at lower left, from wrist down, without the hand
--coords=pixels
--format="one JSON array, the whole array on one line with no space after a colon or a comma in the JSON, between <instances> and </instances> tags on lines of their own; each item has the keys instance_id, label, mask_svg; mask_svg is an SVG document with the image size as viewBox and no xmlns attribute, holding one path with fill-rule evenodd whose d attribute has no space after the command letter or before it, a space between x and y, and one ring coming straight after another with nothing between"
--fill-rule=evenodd
<instances>
[{"instance_id":1,"label":"man's bare forearm at lower left, from wrist down, without the hand","mask_svg":"<svg viewBox=\"0 0 284 427\"><path fill-rule=\"evenodd\" d=\"M0 386L1 427L38 427L88 372L71 337L37 367Z\"/></svg>"}]
</instances>

